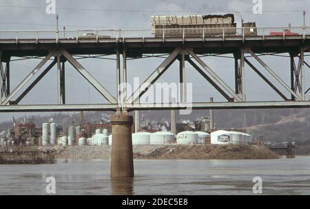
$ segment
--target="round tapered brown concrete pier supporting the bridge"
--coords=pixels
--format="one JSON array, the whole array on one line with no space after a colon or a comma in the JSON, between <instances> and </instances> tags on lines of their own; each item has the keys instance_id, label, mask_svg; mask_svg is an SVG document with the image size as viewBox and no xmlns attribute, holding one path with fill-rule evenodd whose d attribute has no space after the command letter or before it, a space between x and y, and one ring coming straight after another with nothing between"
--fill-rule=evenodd
<instances>
[{"instance_id":1,"label":"round tapered brown concrete pier supporting the bridge","mask_svg":"<svg viewBox=\"0 0 310 209\"><path fill-rule=\"evenodd\" d=\"M133 117L128 115L111 116L112 156L111 177L134 177L132 155Z\"/></svg>"}]
</instances>

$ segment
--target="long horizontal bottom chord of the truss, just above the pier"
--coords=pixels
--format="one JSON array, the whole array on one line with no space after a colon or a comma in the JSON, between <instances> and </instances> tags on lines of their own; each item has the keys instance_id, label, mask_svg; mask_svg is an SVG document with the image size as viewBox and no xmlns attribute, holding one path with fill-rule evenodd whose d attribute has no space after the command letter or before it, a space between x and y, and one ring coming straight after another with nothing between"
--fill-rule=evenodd
<instances>
[{"instance_id":1,"label":"long horizontal bottom chord of the truss, just above the pier","mask_svg":"<svg viewBox=\"0 0 310 209\"><path fill-rule=\"evenodd\" d=\"M196 102L196 103L127 103L127 110L205 110L205 109L263 109L263 108L310 108L310 101L246 101L246 102ZM74 105L19 105L0 106L0 112L68 112L68 111L115 111L117 104Z\"/></svg>"}]
</instances>

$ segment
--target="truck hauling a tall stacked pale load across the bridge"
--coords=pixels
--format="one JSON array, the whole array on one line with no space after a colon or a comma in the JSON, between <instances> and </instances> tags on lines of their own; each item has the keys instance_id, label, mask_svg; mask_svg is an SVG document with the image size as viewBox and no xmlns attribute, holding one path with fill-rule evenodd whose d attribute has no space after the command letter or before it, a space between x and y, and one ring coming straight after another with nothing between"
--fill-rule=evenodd
<instances>
[{"instance_id":1,"label":"truck hauling a tall stacked pale load across the bridge","mask_svg":"<svg viewBox=\"0 0 310 209\"><path fill-rule=\"evenodd\" d=\"M161 37L236 36L234 14L152 16L152 34ZM242 23L245 34L257 34L256 23Z\"/></svg>"}]
</instances>

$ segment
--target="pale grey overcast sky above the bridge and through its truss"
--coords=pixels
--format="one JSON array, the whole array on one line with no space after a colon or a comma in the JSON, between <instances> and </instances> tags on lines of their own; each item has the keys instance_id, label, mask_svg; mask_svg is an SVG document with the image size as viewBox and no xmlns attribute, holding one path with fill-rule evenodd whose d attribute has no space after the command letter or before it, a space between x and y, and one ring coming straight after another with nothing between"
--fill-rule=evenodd
<instances>
[{"instance_id":1,"label":"pale grey overcast sky above the bridge and through its truss","mask_svg":"<svg viewBox=\"0 0 310 209\"><path fill-rule=\"evenodd\" d=\"M55 17L46 14L45 0L0 0L0 30L38 30L54 29ZM217 1L56 1L56 12L59 14L61 28L67 29L96 29L96 28L150 28L150 16L154 14L219 14L234 12L236 22L240 26L240 18L245 21L256 21L258 27L268 26L302 26L302 10L310 13L310 0L262 0L262 14L253 14L252 0L217 0ZM310 24L310 14L307 14L307 23ZM1 36L1 34L0 34ZM282 57L263 57L271 68L289 83L289 59ZM306 61L309 58L306 59ZM115 61L107 60L79 60L107 90L115 94ZM144 80L163 59L141 59L128 61L129 81L133 77ZM206 63L214 69L229 85L234 88L234 59L207 58ZM309 60L310 61L310 60ZM11 89L19 83L39 60L14 61L11 64ZM256 66L259 66L256 63ZM262 68L260 68L262 69ZM262 72L264 70L262 69ZM66 99L68 103L103 103L91 86L67 64L66 68ZM178 82L178 64L175 63L158 82ZM257 77L254 72L246 68L247 99L277 100L276 93ZM272 79L271 79L272 80ZM193 68L187 65L186 81L193 83L194 101L207 101L214 97L216 101L224 101L223 97L212 88L205 79L198 76ZM309 69L306 74L306 88L309 87ZM278 84L276 84L282 89ZM283 92L285 92L283 90ZM286 93L289 96L288 93ZM56 103L56 68L40 81L22 104L26 103ZM12 114L0 113L0 121L10 119Z\"/></svg>"}]
</instances>

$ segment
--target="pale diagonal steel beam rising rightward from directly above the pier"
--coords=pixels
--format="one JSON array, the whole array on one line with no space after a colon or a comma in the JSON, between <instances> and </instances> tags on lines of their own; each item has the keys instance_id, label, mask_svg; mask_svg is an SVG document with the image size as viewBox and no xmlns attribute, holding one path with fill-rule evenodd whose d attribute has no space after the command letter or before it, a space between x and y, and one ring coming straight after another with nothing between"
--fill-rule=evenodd
<instances>
[{"instance_id":1,"label":"pale diagonal steel beam rising rightward from directly above the pier","mask_svg":"<svg viewBox=\"0 0 310 209\"><path fill-rule=\"evenodd\" d=\"M163 61L163 63L161 63L161 65L158 66L158 68L156 68L154 72L152 72L152 74L141 84L141 86L139 86L139 88L134 91L132 96L127 99L127 103L136 102L149 89L149 87L152 86L152 84L155 83L159 77L161 77L161 75L169 68L169 66L171 66L172 63L174 63L176 57L178 56L181 50L182 50L181 48L176 48L169 55L169 57L167 57L165 61ZM147 83L146 86L145 83Z\"/></svg>"}]
</instances>

